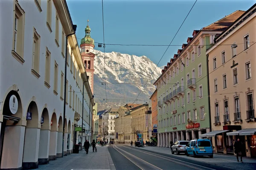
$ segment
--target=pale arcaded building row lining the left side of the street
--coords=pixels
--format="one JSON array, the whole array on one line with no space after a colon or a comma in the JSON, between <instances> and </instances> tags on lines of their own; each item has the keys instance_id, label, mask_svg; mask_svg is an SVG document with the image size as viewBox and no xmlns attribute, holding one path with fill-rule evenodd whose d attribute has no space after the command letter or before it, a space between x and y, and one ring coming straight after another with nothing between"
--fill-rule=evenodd
<instances>
[{"instance_id":1,"label":"pale arcaded building row lining the left side of the street","mask_svg":"<svg viewBox=\"0 0 256 170\"><path fill-rule=\"evenodd\" d=\"M0 16L0 169L34 169L84 142L93 95L65 0L0 1Z\"/></svg>"}]
</instances>

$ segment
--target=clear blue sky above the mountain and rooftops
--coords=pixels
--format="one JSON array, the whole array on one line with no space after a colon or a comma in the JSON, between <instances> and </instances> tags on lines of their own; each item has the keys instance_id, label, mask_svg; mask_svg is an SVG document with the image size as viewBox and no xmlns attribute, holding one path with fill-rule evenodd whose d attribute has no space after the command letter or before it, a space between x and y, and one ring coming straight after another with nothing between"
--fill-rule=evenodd
<instances>
[{"instance_id":1,"label":"clear blue sky above the mountain and rooftops","mask_svg":"<svg viewBox=\"0 0 256 170\"><path fill-rule=\"evenodd\" d=\"M246 11L256 0L198 0L172 42L179 46L170 46L164 56L167 46L126 46L169 45L194 3L195 0L103 0L105 44L123 44L106 45L105 52L145 55L161 67L192 37L193 30L236 10ZM73 24L77 25L79 45L88 19L91 37L103 43L102 0L67 0L67 5ZM103 51L97 43L95 49Z\"/></svg>"}]
</instances>

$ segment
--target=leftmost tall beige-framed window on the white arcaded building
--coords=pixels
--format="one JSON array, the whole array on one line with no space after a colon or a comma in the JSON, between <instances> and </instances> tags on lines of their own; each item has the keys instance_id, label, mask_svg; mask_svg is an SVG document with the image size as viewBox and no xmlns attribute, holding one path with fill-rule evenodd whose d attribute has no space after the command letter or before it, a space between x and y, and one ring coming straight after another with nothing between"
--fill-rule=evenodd
<instances>
[{"instance_id":1,"label":"leftmost tall beige-framed window on the white arcaded building","mask_svg":"<svg viewBox=\"0 0 256 170\"><path fill-rule=\"evenodd\" d=\"M25 24L25 12L20 7L17 0L15 0L15 16L14 16L14 28L13 28L13 47L12 56L15 57L21 64L23 60L24 49L24 24Z\"/></svg>"}]
</instances>

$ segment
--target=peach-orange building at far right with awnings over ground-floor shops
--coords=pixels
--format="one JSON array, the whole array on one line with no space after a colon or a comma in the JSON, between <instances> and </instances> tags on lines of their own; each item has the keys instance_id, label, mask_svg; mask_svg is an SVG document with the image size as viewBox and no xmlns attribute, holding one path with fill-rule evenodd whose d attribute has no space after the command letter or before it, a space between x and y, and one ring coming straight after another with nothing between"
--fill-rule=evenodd
<instances>
[{"instance_id":1,"label":"peach-orange building at far right with awnings over ground-floor shops","mask_svg":"<svg viewBox=\"0 0 256 170\"><path fill-rule=\"evenodd\" d=\"M212 132L217 153L233 153L240 139L243 155L256 156L254 73L256 62L256 5L215 38L207 50Z\"/></svg>"}]
</instances>

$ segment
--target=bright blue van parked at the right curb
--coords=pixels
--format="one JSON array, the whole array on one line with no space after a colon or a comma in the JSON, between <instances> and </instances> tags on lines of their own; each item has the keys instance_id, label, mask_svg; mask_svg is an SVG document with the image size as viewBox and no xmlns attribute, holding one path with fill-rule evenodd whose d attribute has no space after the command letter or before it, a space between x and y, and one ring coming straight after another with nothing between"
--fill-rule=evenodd
<instances>
[{"instance_id":1,"label":"bright blue van parked at the right curb","mask_svg":"<svg viewBox=\"0 0 256 170\"><path fill-rule=\"evenodd\" d=\"M209 156L213 158L212 143L209 139L193 139L186 147L186 156Z\"/></svg>"}]
</instances>

